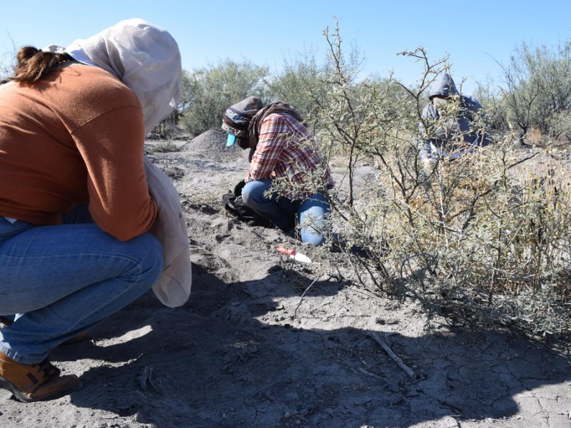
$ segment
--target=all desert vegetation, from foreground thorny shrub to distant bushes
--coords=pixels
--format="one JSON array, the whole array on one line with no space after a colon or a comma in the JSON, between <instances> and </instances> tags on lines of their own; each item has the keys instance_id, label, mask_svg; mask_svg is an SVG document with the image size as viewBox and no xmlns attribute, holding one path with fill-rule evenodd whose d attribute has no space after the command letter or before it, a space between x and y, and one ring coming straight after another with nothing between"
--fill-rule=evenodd
<instances>
[{"instance_id":1,"label":"all desert vegetation, from foreground thorny shrub to distant bushes","mask_svg":"<svg viewBox=\"0 0 571 428\"><path fill-rule=\"evenodd\" d=\"M330 194L330 241L364 286L451 322L569 335L571 42L515 49L501 83L472 94L488 119L475 126L488 126L495 143L427 172L418 123L448 58L402 52L422 68L411 88L398 76L360 78L362 58L345 51L338 26L323 35L323 63L304 53L273 76L248 61L185 71L166 123L198 135L220 128L226 108L249 95L292 104L345 173ZM375 165L375 176L357 185L363 165Z\"/></svg>"}]
</instances>

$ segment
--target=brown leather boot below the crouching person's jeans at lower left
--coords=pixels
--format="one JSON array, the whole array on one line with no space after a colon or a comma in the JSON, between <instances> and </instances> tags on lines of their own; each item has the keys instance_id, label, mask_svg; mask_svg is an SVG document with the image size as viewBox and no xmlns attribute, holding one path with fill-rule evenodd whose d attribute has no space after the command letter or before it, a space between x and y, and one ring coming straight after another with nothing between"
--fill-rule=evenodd
<instances>
[{"instance_id":1,"label":"brown leather boot below the crouching person's jeans at lower left","mask_svg":"<svg viewBox=\"0 0 571 428\"><path fill-rule=\"evenodd\" d=\"M56 399L81 388L75 374L60 376L49 360L23 364L0 352L0 388L8 389L21 402Z\"/></svg>"}]
</instances>

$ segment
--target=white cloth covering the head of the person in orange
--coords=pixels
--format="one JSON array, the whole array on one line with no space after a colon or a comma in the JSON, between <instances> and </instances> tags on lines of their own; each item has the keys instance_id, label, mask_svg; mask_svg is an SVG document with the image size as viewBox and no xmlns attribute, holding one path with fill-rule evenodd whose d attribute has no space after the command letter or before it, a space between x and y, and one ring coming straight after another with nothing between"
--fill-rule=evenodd
<instances>
[{"instance_id":1,"label":"white cloth covering the head of the person in orange","mask_svg":"<svg viewBox=\"0 0 571 428\"><path fill-rule=\"evenodd\" d=\"M65 51L77 61L116 76L143 106L151 132L181 101L182 66L178 45L168 31L142 19L127 19Z\"/></svg>"}]
</instances>

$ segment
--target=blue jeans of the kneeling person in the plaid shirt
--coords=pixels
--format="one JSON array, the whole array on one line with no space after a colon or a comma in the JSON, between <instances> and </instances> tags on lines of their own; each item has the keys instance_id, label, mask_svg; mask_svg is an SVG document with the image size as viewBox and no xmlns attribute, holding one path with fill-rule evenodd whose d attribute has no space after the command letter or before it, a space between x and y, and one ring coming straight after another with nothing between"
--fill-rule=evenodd
<instances>
[{"instance_id":1,"label":"blue jeans of the kneeling person in the plaid shirt","mask_svg":"<svg viewBox=\"0 0 571 428\"><path fill-rule=\"evenodd\" d=\"M315 193L305 200L290 200L273 193L271 198L266 198L264 193L270 190L271 183L271 180L246 183L242 189L244 203L282 230L290 227L291 218L296 215L302 242L315 247L323 244L325 223L330 212L327 197L323 193Z\"/></svg>"}]
</instances>

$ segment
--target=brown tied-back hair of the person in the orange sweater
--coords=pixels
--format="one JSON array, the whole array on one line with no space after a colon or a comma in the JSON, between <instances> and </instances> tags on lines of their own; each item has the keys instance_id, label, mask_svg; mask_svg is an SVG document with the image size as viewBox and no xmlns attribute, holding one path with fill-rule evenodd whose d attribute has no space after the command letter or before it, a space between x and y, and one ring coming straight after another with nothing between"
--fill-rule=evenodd
<instances>
[{"instance_id":1,"label":"brown tied-back hair of the person in the orange sweater","mask_svg":"<svg viewBox=\"0 0 571 428\"><path fill-rule=\"evenodd\" d=\"M15 76L10 80L31 83L38 81L61 63L74 61L74 58L69 54L44 52L34 46L24 46L16 54L16 61L18 63L14 69Z\"/></svg>"}]
</instances>

